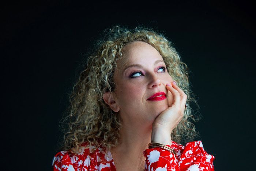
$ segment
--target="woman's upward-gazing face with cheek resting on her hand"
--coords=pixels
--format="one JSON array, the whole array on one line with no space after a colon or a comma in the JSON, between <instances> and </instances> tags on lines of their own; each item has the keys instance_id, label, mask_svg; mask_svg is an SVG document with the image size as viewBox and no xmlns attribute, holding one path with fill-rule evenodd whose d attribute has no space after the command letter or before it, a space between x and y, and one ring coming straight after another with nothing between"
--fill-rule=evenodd
<instances>
[{"instance_id":1,"label":"woman's upward-gazing face with cheek resting on her hand","mask_svg":"<svg viewBox=\"0 0 256 171\"><path fill-rule=\"evenodd\" d=\"M162 56L151 45L136 41L125 45L123 52L114 72L113 96L119 114L128 123L154 122L172 104L173 97L166 84L171 84L173 79L165 69ZM158 92L164 92L166 98L148 100Z\"/></svg>"}]
</instances>

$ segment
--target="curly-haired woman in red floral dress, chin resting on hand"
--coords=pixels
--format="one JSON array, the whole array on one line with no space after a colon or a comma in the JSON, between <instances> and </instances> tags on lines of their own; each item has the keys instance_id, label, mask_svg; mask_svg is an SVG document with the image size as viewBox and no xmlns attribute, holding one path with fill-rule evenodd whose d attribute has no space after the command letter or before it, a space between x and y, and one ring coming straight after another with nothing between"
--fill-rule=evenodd
<instances>
[{"instance_id":1,"label":"curly-haired woman in red floral dress, chin resting on hand","mask_svg":"<svg viewBox=\"0 0 256 171\"><path fill-rule=\"evenodd\" d=\"M196 136L187 65L150 29L118 26L99 41L70 96L53 170L214 170Z\"/></svg>"}]
</instances>

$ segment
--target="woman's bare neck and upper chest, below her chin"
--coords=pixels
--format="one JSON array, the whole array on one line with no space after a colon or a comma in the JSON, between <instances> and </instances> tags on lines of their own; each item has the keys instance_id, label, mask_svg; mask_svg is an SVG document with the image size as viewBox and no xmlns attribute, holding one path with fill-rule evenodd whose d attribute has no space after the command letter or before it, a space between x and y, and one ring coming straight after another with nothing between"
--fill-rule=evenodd
<instances>
[{"instance_id":1,"label":"woman's bare neck and upper chest, below her chin","mask_svg":"<svg viewBox=\"0 0 256 171\"><path fill-rule=\"evenodd\" d=\"M112 154L117 171L126 167L133 170L144 170L145 158L143 151L151 141L152 124L131 125L123 124L120 131L120 144L113 147Z\"/></svg>"}]
</instances>

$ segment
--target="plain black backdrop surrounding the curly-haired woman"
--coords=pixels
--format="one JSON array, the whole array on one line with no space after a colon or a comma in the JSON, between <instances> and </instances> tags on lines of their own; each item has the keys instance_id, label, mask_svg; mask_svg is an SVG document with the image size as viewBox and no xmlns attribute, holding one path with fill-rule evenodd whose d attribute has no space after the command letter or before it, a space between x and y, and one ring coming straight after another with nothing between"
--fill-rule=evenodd
<instances>
[{"instance_id":1,"label":"plain black backdrop surrounding the curly-haired woman","mask_svg":"<svg viewBox=\"0 0 256 171\"><path fill-rule=\"evenodd\" d=\"M215 170L253 170L255 6L242 1L11 2L1 5L1 162L52 170L59 121L83 54L115 24L153 27L192 73L203 118L196 123Z\"/></svg>"}]
</instances>

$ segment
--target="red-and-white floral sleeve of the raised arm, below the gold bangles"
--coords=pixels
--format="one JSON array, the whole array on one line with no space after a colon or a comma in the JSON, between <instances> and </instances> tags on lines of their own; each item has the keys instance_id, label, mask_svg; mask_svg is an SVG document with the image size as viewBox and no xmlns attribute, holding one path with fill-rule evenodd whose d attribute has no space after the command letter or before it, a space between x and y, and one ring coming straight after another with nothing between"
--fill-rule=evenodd
<instances>
[{"instance_id":1,"label":"red-and-white floral sleeve of the raised arm, below the gold bangles","mask_svg":"<svg viewBox=\"0 0 256 171\"><path fill-rule=\"evenodd\" d=\"M201 141L189 142L185 147L172 141L169 147L177 152L177 157L160 147L143 151L145 171L214 171L215 157L207 154Z\"/></svg>"}]
</instances>

